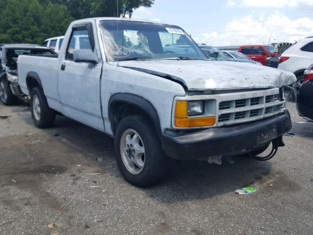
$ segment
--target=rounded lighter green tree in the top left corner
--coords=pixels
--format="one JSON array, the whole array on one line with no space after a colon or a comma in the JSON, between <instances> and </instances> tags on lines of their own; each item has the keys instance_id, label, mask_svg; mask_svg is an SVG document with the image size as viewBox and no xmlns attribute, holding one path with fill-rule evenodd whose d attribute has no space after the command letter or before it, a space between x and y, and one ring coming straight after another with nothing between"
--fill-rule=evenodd
<instances>
[{"instance_id":1,"label":"rounded lighter green tree in the top left corner","mask_svg":"<svg viewBox=\"0 0 313 235\"><path fill-rule=\"evenodd\" d=\"M0 43L42 44L63 35L72 21L67 7L38 0L0 0Z\"/></svg>"}]
</instances>

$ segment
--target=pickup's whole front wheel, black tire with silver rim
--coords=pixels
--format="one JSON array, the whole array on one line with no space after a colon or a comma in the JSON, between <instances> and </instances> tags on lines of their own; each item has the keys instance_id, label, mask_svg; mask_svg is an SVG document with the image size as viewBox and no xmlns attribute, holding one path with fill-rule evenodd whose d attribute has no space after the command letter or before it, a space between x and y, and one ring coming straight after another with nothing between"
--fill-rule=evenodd
<instances>
[{"instance_id":1,"label":"pickup's whole front wheel, black tire with silver rim","mask_svg":"<svg viewBox=\"0 0 313 235\"><path fill-rule=\"evenodd\" d=\"M116 128L114 149L118 168L134 186L153 185L168 172L169 159L148 118L137 115L123 118ZM144 154L140 155L142 151Z\"/></svg>"}]
</instances>

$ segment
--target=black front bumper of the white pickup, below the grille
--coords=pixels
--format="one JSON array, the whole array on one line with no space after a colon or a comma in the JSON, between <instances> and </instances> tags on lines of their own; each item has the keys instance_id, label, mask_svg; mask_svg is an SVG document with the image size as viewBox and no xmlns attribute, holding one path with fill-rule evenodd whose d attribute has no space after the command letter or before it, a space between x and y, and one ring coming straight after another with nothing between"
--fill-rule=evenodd
<instances>
[{"instance_id":1,"label":"black front bumper of the white pickup, below the grille","mask_svg":"<svg viewBox=\"0 0 313 235\"><path fill-rule=\"evenodd\" d=\"M191 160L235 155L272 141L291 130L287 110L274 117L175 136L163 134L163 149L174 159Z\"/></svg>"}]
</instances>

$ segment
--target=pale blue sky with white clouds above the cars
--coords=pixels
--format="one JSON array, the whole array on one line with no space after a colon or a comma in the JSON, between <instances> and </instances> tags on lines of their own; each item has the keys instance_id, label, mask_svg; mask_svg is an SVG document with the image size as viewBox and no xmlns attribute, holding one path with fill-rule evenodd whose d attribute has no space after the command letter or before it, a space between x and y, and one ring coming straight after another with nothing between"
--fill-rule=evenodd
<instances>
[{"instance_id":1,"label":"pale blue sky with white clouds above the cars","mask_svg":"<svg viewBox=\"0 0 313 235\"><path fill-rule=\"evenodd\" d=\"M313 36L313 0L155 0L132 18L178 25L197 43L215 47Z\"/></svg>"}]
</instances>

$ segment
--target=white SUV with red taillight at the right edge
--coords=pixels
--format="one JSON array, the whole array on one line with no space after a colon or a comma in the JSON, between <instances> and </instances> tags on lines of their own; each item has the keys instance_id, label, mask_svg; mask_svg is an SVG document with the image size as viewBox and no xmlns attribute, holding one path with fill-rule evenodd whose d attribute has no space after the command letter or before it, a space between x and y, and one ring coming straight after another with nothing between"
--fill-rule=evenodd
<instances>
[{"instance_id":1,"label":"white SUV with red taillight at the right edge","mask_svg":"<svg viewBox=\"0 0 313 235\"><path fill-rule=\"evenodd\" d=\"M313 37L304 38L289 47L280 57L278 69L292 72L297 80L313 64Z\"/></svg>"}]
</instances>

